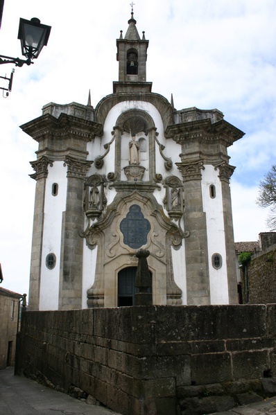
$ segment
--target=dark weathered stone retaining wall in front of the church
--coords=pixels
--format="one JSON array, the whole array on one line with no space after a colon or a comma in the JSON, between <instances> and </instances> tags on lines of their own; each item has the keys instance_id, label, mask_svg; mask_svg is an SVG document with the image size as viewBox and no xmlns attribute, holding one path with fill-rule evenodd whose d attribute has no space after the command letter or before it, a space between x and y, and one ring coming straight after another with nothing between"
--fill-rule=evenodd
<instances>
[{"instance_id":1,"label":"dark weathered stone retaining wall in front of the church","mask_svg":"<svg viewBox=\"0 0 276 415\"><path fill-rule=\"evenodd\" d=\"M275 312L274 304L25 312L16 371L126 415L230 409L261 399L261 379L275 376Z\"/></svg>"}]
</instances>

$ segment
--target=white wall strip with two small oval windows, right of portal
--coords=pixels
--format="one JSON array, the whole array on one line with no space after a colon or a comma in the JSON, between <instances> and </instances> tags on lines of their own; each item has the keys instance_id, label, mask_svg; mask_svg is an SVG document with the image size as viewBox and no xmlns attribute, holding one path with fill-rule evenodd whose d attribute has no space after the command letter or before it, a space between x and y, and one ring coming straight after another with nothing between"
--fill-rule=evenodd
<instances>
[{"instance_id":1,"label":"white wall strip with two small oval windows, right of portal","mask_svg":"<svg viewBox=\"0 0 276 415\"><path fill-rule=\"evenodd\" d=\"M228 283L225 251L225 230L223 220L223 197L221 192L221 180L218 177L219 170L214 166L205 165L202 173L202 202L203 211L206 213L208 263L211 304L227 304ZM216 196L210 196L210 186L214 185ZM212 265L212 256L220 254L222 265L218 270Z\"/></svg>"}]
</instances>

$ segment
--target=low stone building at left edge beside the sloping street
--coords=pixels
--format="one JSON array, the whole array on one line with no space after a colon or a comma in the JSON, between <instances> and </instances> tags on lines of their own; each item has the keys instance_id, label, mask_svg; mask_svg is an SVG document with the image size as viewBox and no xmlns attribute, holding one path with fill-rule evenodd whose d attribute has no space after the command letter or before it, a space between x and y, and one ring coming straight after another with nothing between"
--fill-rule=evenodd
<instances>
[{"instance_id":1,"label":"low stone building at left edge beside the sloping street","mask_svg":"<svg viewBox=\"0 0 276 415\"><path fill-rule=\"evenodd\" d=\"M19 304L22 294L0 288L0 369L15 364Z\"/></svg>"}]
</instances>

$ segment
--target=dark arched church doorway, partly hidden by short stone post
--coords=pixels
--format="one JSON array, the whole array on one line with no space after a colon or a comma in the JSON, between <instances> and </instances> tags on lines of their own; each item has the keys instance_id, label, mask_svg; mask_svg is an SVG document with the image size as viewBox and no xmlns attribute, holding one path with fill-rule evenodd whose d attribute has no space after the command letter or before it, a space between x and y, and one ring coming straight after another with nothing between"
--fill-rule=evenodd
<instances>
[{"instance_id":1,"label":"dark arched church doorway, partly hidden by short stone post","mask_svg":"<svg viewBox=\"0 0 276 415\"><path fill-rule=\"evenodd\" d=\"M118 307L135 306L136 270L137 270L137 267L127 267L119 271L119 274L118 274Z\"/></svg>"}]
</instances>

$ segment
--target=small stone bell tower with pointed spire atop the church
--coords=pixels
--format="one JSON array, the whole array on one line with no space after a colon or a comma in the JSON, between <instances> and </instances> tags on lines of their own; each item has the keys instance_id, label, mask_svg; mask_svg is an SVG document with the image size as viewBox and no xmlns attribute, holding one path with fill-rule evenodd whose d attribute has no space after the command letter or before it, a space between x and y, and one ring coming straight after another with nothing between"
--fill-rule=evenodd
<instances>
[{"instance_id":1,"label":"small stone bell tower with pointed spire atop the church","mask_svg":"<svg viewBox=\"0 0 276 415\"><path fill-rule=\"evenodd\" d=\"M146 82L146 59L148 40L143 32L139 36L136 20L133 17L128 20L128 30L123 37L121 30L120 38L117 39L117 61L119 61L119 82L113 82L113 91L137 91L150 92L152 82Z\"/></svg>"}]
</instances>

